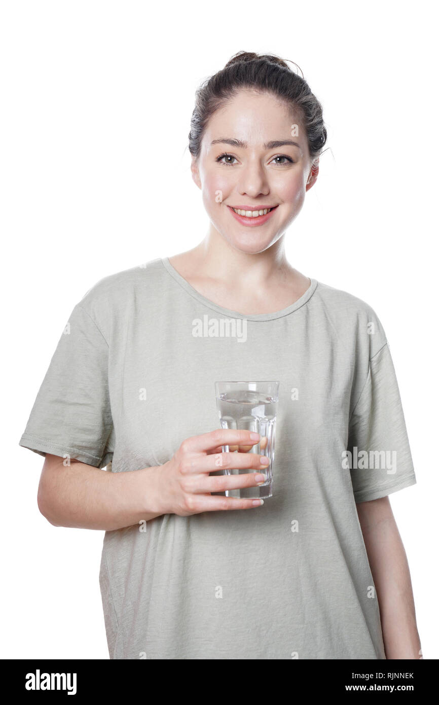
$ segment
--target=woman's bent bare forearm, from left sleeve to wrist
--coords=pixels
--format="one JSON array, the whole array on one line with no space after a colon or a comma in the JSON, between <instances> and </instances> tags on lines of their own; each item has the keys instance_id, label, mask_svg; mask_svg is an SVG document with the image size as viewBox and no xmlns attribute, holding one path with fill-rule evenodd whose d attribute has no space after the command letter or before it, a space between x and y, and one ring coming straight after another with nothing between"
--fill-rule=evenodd
<instances>
[{"instance_id":1,"label":"woman's bent bare forearm, from left sleeve to wrist","mask_svg":"<svg viewBox=\"0 0 439 705\"><path fill-rule=\"evenodd\" d=\"M107 472L48 456L38 489L41 513L54 526L113 531L163 514L158 477L161 466Z\"/></svg>"}]
</instances>

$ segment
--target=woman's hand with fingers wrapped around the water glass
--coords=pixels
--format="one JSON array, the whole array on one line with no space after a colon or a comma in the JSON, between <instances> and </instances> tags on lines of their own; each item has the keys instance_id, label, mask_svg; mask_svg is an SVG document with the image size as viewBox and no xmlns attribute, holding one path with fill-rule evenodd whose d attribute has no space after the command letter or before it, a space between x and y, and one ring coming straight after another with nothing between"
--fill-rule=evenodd
<instances>
[{"instance_id":1,"label":"woman's hand with fingers wrapped around the water glass","mask_svg":"<svg viewBox=\"0 0 439 705\"><path fill-rule=\"evenodd\" d=\"M261 505L260 499L211 496L211 492L223 492L263 484L268 458L248 453L255 443L266 446L266 438L251 431L216 429L199 436L185 439L171 460L161 465L159 472L159 496L163 503L163 514L187 517L202 512L228 509L250 509ZM237 453L222 453L222 447L239 449ZM244 452L240 452L244 450ZM266 460L267 462L261 462ZM222 468L247 469L249 472L235 475L214 475Z\"/></svg>"}]
</instances>

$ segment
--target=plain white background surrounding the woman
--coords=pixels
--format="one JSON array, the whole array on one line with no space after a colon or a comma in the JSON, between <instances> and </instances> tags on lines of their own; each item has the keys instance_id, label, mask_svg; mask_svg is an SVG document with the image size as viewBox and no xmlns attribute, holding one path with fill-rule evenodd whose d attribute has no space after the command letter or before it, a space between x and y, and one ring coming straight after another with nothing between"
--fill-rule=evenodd
<instances>
[{"instance_id":1,"label":"plain white background surrounding the woman","mask_svg":"<svg viewBox=\"0 0 439 705\"><path fill-rule=\"evenodd\" d=\"M307 276L376 310L417 484L391 496L424 658L438 658L437 70L433 4L4 1L3 658L108 658L104 532L39 514L43 458L18 446L76 302L100 278L190 249L194 92L241 49L295 61L330 147L287 233Z\"/></svg>"}]
</instances>

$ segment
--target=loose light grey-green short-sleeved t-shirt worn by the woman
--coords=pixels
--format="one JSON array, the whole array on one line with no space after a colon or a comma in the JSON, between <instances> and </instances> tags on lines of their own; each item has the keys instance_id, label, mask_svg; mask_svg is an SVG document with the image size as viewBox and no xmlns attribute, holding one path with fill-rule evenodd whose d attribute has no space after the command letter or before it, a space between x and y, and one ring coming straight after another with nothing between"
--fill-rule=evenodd
<instances>
[{"instance_id":1,"label":"loose light grey-green short-sleeved t-shirt worn by the woman","mask_svg":"<svg viewBox=\"0 0 439 705\"><path fill-rule=\"evenodd\" d=\"M221 379L280 381L273 496L106 532L110 658L385 658L356 502L416 478L365 302L311 279L287 308L242 315L167 257L108 276L73 309L20 445L106 472L162 465L219 427Z\"/></svg>"}]
</instances>

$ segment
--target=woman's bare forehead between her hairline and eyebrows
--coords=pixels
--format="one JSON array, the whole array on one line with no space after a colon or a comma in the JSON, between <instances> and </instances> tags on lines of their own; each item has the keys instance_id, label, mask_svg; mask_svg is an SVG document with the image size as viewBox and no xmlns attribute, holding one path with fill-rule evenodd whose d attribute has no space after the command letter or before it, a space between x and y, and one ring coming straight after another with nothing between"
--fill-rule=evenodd
<instances>
[{"instance_id":1,"label":"woman's bare forehead between her hairline and eyebrows","mask_svg":"<svg viewBox=\"0 0 439 705\"><path fill-rule=\"evenodd\" d=\"M292 125L299 125L299 139L304 138L300 128L299 111L278 99L272 93L241 90L219 108L206 125L204 144L211 140L233 137L259 146L270 140L291 138Z\"/></svg>"}]
</instances>

